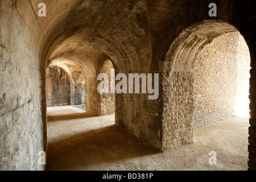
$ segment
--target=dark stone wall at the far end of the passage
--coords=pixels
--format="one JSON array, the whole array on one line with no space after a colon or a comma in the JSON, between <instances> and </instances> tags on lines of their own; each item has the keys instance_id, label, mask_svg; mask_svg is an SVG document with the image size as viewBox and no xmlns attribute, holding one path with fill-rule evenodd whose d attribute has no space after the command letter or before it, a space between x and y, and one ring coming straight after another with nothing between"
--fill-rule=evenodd
<instances>
[{"instance_id":1,"label":"dark stone wall at the far end of the passage","mask_svg":"<svg viewBox=\"0 0 256 182\"><path fill-rule=\"evenodd\" d=\"M71 104L71 84L67 73L61 68L47 68L47 107Z\"/></svg>"}]
</instances>

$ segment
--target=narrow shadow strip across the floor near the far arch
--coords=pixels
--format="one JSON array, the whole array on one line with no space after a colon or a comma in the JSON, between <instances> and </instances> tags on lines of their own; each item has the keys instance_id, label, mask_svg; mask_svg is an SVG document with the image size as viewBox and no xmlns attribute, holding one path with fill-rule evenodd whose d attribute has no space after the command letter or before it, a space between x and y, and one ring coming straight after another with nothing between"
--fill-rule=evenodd
<instances>
[{"instance_id":1,"label":"narrow shadow strip across the floor near the far arch","mask_svg":"<svg viewBox=\"0 0 256 182\"><path fill-rule=\"evenodd\" d=\"M48 122L54 121L67 121L71 119L83 119L83 118L92 118L98 117L98 115L90 113L74 113L74 114L60 114L60 115L47 115Z\"/></svg>"}]
</instances>

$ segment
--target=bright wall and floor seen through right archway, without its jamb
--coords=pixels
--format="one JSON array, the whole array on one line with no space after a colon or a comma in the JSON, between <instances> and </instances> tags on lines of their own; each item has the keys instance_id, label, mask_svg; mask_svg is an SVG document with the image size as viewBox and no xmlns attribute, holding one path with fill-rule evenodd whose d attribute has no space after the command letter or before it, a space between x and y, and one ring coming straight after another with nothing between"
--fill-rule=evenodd
<instances>
[{"instance_id":1,"label":"bright wall and floor seen through right archway, without its jamb","mask_svg":"<svg viewBox=\"0 0 256 182\"><path fill-rule=\"evenodd\" d=\"M192 69L193 143L214 152L216 169L229 162L246 168L250 53L245 40L238 31L219 36L199 52Z\"/></svg>"}]
</instances>

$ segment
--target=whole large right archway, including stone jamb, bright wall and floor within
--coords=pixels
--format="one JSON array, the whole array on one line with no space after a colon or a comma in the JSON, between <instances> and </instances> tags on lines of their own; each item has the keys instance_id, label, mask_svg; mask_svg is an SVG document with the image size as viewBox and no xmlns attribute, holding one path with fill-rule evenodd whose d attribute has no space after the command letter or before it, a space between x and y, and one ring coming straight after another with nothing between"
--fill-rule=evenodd
<instances>
[{"instance_id":1,"label":"whole large right archway, including stone jamb, bright wall and floor within","mask_svg":"<svg viewBox=\"0 0 256 182\"><path fill-rule=\"evenodd\" d=\"M246 167L250 52L240 32L220 20L193 24L172 43L163 75L163 150L193 143L197 160L216 151L218 169Z\"/></svg>"}]
</instances>

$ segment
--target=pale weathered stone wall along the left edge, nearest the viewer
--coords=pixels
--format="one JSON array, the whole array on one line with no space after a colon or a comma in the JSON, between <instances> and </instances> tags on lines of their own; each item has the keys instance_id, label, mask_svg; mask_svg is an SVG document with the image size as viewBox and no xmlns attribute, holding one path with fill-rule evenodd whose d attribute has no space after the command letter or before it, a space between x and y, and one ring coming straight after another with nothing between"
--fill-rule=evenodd
<instances>
[{"instance_id":1,"label":"pale weathered stone wall along the left edge, nearest the viewer","mask_svg":"<svg viewBox=\"0 0 256 182\"><path fill-rule=\"evenodd\" d=\"M43 170L44 75L36 34L11 1L0 1L0 170ZM26 11L27 13L27 11Z\"/></svg>"}]
</instances>

